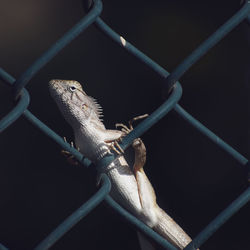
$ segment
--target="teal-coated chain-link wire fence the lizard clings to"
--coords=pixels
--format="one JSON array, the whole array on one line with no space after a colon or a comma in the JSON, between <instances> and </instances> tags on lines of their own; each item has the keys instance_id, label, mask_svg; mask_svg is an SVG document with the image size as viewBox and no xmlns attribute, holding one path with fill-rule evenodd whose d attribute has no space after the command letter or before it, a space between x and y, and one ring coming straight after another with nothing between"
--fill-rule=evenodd
<instances>
[{"instance_id":1,"label":"teal-coated chain-link wire fence the lizard clings to","mask_svg":"<svg viewBox=\"0 0 250 250\"><path fill-rule=\"evenodd\" d=\"M85 6L89 6L89 1L85 1ZM37 74L37 72L44 67L59 51L61 51L67 44L73 41L79 34L81 34L87 27L94 24L110 39L114 40L123 49L127 50L135 58L142 63L152 68L157 72L164 82L164 93L166 101L156 109L147 119L141 122L129 135L127 135L121 147L126 149L132 141L141 136L150 127L156 124L169 111L173 110L183 120L190 123L194 128L200 131L203 135L213 141L217 146L222 148L226 153L235 158L240 164L247 168L249 172L248 159L233 149L230 145L220 139L212 131L202 125L199 121L193 118L186 112L178 101L182 95L181 84L178 82L180 77L204 54L208 52L215 44L217 44L224 36L226 36L239 23L246 20L250 23L250 2L246 1L242 8L232 16L224 25L222 25L214 34L212 34L206 41L204 41L197 49L195 49L182 63L180 63L175 70L170 74L164 68L159 66L152 59L144 55L141 51L135 48L132 44L126 41L123 37L115 33L103 20L99 17L102 11L102 2L94 0L91 7L88 9L88 14L70 29L65 35L59 39L50 49L48 49L41 57L39 57L21 76L15 80L6 71L0 68L0 79L12 86L14 99L16 100L15 107L0 121L0 131L4 131L14 123L21 115L24 115L31 123L40 129L47 136L55 140L62 148L72 153L84 166L91 165L91 161L84 157L80 152L72 148L53 130L36 118L27 107L29 106L29 93L25 89L28 82ZM105 167L114 159L113 156L103 158L97 167ZM101 176L101 188L93 195L90 200L85 202L79 209L72 213L62 224L60 224L52 233L50 233L35 249L48 249L56 241L58 241L66 232L68 232L76 223L78 223L84 216L91 212L98 204L105 200L114 210L121 216L127 219L138 230L147 234L159 245L165 249L176 249L171 243L163 239L160 235L147 227L133 215L124 210L117 204L110 196L109 191L111 184L106 175ZM222 211L207 227L202 230L193 241L186 246L185 249L196 249L200 247L218 228L220 228L233 214L235 214L242 206L250 200L250 188L247 188L235 201L232 202L224 211ZM7 249L0 244L0 249Z\"/></svg>"}]
</instances>

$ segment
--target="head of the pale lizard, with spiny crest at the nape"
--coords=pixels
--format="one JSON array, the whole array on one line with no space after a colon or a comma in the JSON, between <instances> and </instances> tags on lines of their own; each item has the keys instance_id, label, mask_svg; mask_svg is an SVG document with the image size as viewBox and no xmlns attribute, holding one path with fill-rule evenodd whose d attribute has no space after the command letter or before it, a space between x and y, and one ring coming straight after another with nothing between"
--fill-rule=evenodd
<instances>
[{"instance_id":1,"label":"head of the pale lizard, with spiny crest at the nape","mask_svg":"<svg viewBox=\"0 0 250 250\"><path fill-rule=\"evenodd\" d=\"M64 118L73 127L85 125L91 120L101 121L100 105L83 91L79 82L51 80L49 89Z\"/></svg>"}]
</instances>

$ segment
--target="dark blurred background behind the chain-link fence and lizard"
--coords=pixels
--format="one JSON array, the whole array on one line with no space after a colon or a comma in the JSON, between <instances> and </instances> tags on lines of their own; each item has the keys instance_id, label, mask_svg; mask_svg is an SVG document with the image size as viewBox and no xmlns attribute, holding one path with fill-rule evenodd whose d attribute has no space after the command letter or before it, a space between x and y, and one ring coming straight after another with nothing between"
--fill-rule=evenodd
<instances>
[{"instance_id":1,"label":"dark blurred background behind the chain-link fence and lizard","mask_svg":"<svg viewBox=\"0 0 250 250\"><path fill-rule=\"evenodd\" d=\"M110 0L104 1L102 18L171 72L239 9L239 2ZM85 15L80 0L0 3L0 66L16 78ZM180 101L246 157L249 28L240 24L181 78ZM53 78L80 81L103 106L108 128L163 102L161 78L94 26L27 85L30 111L70 141L72 130L49 96ZM0 117L12 109L11 98L0 82ZM192 237L247 188L243 167L173 112L143 139L145 171L158 202ZM96 192L94 171L70 166L60 147L23 117L1 134L0 152L0 242L10 249L32 249ZM246 205L201 249L249 249L249 218ZM133 228L102 204L52 249L139 246Z\"/></svg>"}]
</instances>

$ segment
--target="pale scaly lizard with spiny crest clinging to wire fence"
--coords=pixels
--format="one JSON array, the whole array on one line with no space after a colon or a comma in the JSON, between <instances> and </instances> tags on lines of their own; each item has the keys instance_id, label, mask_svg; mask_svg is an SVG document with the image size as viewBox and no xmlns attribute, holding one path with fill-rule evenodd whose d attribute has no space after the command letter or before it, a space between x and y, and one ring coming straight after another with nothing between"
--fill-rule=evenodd
<instances>
[{"instance_id":1,"label":"pale scaly lizard with spiny crest clinging to wire fence","mask_svg":"<svg viewBox=\"0 0 250 250\"><path fill-rule=\"evenodd\" d=\"M51 80L49 90L62 115L73 128L76 147L94 164L109 154L124 134L132 129L121 124L118 125L123 127L122 130L106 129L101 119L101 106L75 80ZM132 145L135 150L133 169L121 153L101 170L110 178L110 195L177 249L183 249L191 242L191 238L156 202L154 189L143 170L146 161L144 143L137 138Z\"/></svg>"}]
</instances>

